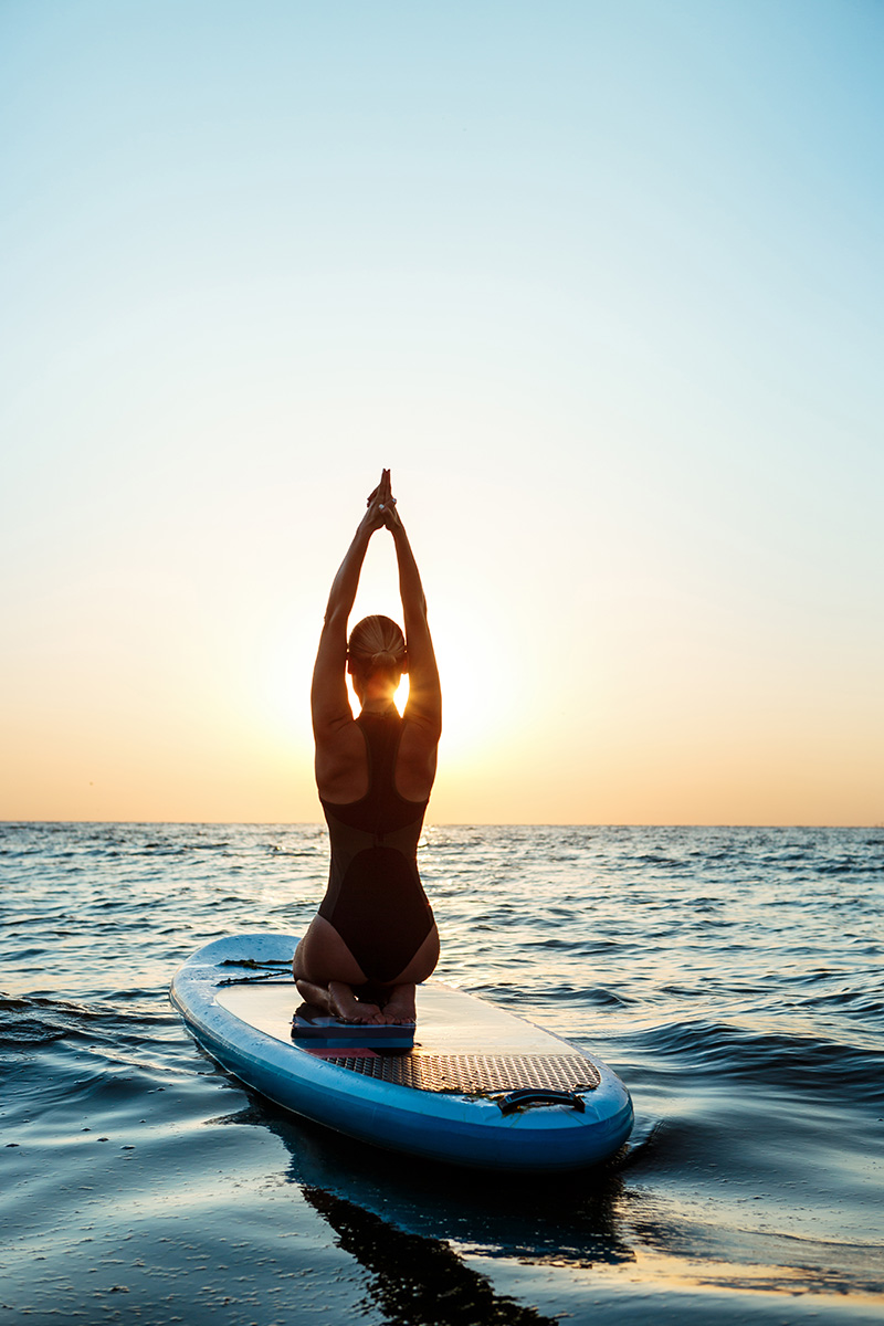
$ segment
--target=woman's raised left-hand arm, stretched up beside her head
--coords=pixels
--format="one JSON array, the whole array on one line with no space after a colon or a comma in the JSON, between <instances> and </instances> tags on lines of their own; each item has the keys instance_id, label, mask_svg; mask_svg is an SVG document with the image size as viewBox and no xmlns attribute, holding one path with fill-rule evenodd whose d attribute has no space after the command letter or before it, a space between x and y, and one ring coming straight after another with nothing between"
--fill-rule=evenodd
<instances>
[{"instance_id":1,"label":"woman's raised left-hand arm, stretched up beside her head","mask_svg":"<svg viewBox=\"0 0 884 1326\"><path fill-rule=\"evenodd\" d=\"M384 524L382 487L378 485L368 499L367 511L359 521L329 594L310 687L313 733L317 741L334 733L342 724L353 721L347 695L347 621L357 598L368 541Z\"/></svg>"}]
</instances>

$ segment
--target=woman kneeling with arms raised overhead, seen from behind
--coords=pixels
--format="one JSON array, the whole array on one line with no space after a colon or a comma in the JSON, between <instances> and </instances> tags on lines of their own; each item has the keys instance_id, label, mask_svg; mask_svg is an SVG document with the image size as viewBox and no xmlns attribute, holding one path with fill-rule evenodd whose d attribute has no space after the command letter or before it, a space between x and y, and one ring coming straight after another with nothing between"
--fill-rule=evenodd
<instances>
[{"instance_id":1,"label":"woman kneeling with arms raised overhead, seen from behind","mask_svg":"<svg viewBox=\"0 0 884 1326\"><path fill-rule=\"evenodd\" d=\"M396 549L406 635L388 617L367 617L347 644L368 541L383 528ZM357 719L346 672L362 705ZM403 672L408 703L400 717L392 697ZM310 704L331 869L319 912L294 955L298 993L346 1021L414 1022L415 984L439 961L416 853L436 776L441 693L427 602L388 469L334 578Z\"/></svg>"}]
</instances>

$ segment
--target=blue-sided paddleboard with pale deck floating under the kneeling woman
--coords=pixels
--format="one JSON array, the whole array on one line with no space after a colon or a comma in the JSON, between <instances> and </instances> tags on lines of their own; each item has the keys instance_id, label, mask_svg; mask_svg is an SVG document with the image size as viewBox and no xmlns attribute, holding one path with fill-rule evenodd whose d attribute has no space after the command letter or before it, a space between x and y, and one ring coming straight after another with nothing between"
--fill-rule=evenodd
<instances>
[{"instance_id":1,"label":"blue-sided paddleboard with pale deck floating under the kneeling woman","mask_svg":"<svg viewBox=\"0 0 884 1326\"><path fill-rule=\"evenodd\" d=\"M441 983L417 988L417 1025L395 1029L399 1045L305 1018L290 973L297 943L213 940L171 987L199 1045L277 1105L372 1146L489 1170L574 1170L628 1138L630 1093L607 1065ZM296 1012L314 1033L298 1030Z\"/></svg>"}]
</instances>

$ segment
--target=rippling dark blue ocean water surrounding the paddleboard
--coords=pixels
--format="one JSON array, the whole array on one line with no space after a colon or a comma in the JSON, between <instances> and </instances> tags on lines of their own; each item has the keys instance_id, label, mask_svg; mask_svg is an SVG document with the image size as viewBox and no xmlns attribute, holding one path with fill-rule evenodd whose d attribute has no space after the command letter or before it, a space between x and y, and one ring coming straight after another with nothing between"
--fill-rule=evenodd
<instances>
[{"instance_id":1,"label":"rippling dark blue ocean water surrounding the paddleboard","mask_svg":"<svg viewBox=\"0 0 884 1326\"><path fill-rule=\"evenodd\" d=\"M175 968L325 870L319 826L0 827L0 1326L884 1318L884 830L425 830L437 976L632 1093L557 1180L359 1147L183 1030Z\"/></svg>"}]
</instances>

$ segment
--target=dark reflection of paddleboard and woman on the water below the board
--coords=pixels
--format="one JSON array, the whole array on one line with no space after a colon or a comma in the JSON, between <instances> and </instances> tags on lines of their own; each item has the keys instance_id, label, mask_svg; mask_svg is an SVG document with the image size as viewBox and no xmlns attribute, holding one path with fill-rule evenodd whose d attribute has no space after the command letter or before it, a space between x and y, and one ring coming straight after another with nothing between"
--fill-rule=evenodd
<instances>
[{"instance_id":1,"label":"dark reflection of paddleboard and woman on the water below the board","mask_svg":"<svg viewBox=\"0 0 884 1326\"><path fill-rule=\"evenodd\" d=\"M213 1122L264 1126L280 1138L290 1156L285 1179L368 1272L372 1306L391 1326L549 1326L497 1296L464 1256L583 1269L635 1261L616 1162L555 1177L472 1172L376 1151L252 1102Z\"/></svg>"}]
</instances>

